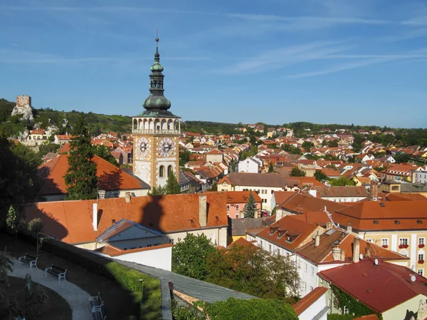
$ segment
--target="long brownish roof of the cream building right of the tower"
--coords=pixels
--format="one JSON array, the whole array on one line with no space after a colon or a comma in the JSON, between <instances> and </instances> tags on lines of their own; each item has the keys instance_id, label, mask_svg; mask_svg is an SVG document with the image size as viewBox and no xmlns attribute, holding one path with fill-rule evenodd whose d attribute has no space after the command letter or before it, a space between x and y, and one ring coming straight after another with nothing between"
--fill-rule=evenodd
<instances>
[{"instance_id":1,"label":"long brownish roof of the cream building right of the tower","mask_svg":"<svg viewBox=\"0 0 427 320\"><path fill-rule=\"evenodd\" d=\"M231 172L228 175L231 185L253 187L285 187L286 177L276 173Z\"/></svg>"}]
</instances>

